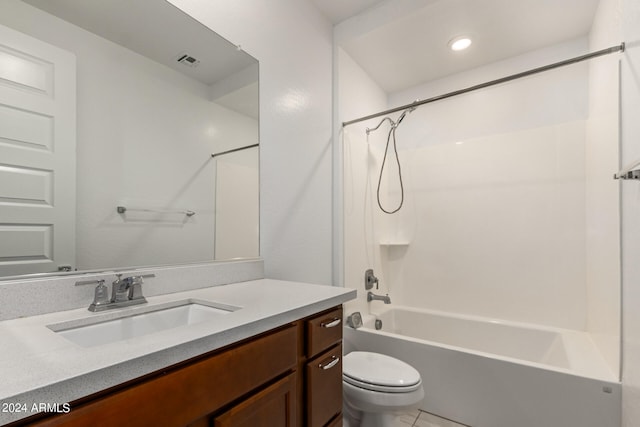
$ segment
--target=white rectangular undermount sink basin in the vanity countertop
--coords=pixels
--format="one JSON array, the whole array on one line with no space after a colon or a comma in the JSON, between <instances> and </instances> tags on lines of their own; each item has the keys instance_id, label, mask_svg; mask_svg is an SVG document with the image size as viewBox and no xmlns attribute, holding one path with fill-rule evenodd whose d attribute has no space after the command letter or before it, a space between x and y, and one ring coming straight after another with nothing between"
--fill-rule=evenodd
<instances>
[{"instance_id":1,"label":"white rectangular undermount sink basin in the vanity countertop","mask_svg":"<svg viewBox=\"0 0 640 427\"><path fill-rule=\"evenodd\" d=\"M167 329L207 322L237 309L239 307L224 304L186 301L177 306L174 304L170 307L129 314L117 319L88 318L79 326L73 325L78 322L67 322L47 327L82 347L94 347Z\"/></svg>"}]
</instances>

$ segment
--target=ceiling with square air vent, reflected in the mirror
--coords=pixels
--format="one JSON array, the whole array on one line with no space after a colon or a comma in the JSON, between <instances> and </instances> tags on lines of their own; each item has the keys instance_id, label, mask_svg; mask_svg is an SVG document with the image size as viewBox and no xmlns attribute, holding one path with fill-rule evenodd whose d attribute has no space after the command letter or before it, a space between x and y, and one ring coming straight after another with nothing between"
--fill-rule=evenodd
<instances>
[{"instance_id":1,"label":"ceiling with square air vent, reflected in the mirror","mask_svg":"<svg viewBox=\"0 0 640 427\"><path fill-rule=\"evenodd\" d=\"M163 0L24 1L210 88L218 85L216 103L258 119L258 61L172 4ZM185 54L195 57L197 66L177 61ZM240 73L242 78L236 78Z\"/></svg>"}]
</instances>

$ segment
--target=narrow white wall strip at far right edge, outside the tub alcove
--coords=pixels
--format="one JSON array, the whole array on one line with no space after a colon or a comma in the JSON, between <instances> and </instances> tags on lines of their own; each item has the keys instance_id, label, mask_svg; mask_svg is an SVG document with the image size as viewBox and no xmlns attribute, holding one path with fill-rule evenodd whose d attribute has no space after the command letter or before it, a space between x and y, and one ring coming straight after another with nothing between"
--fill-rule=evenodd
<instances>
[{"instance_id":1,"label":"narrow white wall strip at far right edge, outside the tub alcove","mask_svg":"<svg viewBox=\"0 0 640 427\"><path fill-rule=\"evenodd\" d=\"M640 158L640 2L621 0L627 50L621 70L621 164ZM640 184L622 187L623 425L640 425Z\"/></svg>"}]
</instances>

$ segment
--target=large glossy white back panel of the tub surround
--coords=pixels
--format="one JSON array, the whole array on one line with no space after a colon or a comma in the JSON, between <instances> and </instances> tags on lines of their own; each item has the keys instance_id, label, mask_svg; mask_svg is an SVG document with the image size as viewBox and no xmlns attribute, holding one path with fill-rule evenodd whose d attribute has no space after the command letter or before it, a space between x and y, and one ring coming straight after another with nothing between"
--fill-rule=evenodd
<instances>
[{"instance_id":1,"label":"large glossy white back panel of the tub surround","mask_svg":"<svg viewBox=\"0 0 640 427\"><path fill-rule=\"evenodd\" d=\"M584 139L575 120L404 151L399 302L584 329Z\"/></svg>"}]
</instances>

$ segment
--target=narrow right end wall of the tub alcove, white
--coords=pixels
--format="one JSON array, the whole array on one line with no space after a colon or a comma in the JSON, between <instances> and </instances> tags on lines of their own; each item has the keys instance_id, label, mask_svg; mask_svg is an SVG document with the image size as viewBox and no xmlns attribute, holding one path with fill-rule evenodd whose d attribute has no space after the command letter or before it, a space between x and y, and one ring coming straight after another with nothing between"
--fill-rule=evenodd
<instances>
[{"instance_id":1,"label":"narrow right end wall of the tub alcove, white","mask_svg":"<svg viewBox=\"0 0 640 427\"><path fill-rule=\"evenodd\" d=\"M597 51L622 40L618 0L601 0L589 36ZM586 140L587 330L620 373L620 197L611 179L619 156L621 55L589 61Z\"/></svg>"}]
</instances>

